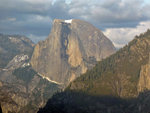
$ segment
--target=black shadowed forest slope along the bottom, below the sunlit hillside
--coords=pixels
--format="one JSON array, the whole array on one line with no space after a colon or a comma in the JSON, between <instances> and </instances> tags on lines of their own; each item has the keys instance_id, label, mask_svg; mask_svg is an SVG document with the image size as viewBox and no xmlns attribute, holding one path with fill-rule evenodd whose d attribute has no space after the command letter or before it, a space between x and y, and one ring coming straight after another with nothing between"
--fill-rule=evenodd
<instances>
[{"instance_id":1,"label":"black shadowed forest slope along the bottom, below the sunlit hillside","mask_svg":"<svg viewBox=\"0 0 150 113\"><path fill-rule=\"evenodd\" d=\"M55 94L38 113L149 113L149 101L150 91L130 99L65 91Z\"/></svg>"}]
</instances>

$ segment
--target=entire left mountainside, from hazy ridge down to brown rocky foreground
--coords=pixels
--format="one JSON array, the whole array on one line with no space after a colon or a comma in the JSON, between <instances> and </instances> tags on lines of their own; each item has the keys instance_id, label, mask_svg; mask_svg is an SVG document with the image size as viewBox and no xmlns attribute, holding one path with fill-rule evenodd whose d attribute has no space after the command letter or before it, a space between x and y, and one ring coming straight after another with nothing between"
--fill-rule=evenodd
<instances>
[{"instance_id":1,"label":"entire left mountainside, from hazy ridge down to brown rocky foreground","mask_svg":"<svg viewBox=\"0 0 150 113\"><path fill-rule=\"evenodd\" d=\"M60 90L30 66L34 44L18 35L0 34L0 106L3 113L35 113Z\"/></svg>"}]
</instances>

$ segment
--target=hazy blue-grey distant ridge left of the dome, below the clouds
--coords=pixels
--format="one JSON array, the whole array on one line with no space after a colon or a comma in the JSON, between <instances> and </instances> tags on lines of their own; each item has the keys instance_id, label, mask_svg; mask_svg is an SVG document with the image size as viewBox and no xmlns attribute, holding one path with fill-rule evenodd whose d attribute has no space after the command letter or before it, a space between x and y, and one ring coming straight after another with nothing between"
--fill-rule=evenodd
<instances>
[{"instance_id":1,"label":"hazy blue-grey distant ridge left of the dome, below the clouds","mask_svg":"<svg viewBox=\"0 0 150 113\"><path fill-rule=\"evenodd\" d=\"M18 54L33 52L33 42L25 36L0 34L0 68L4 68Z\"/></svg>"}]
</instances>

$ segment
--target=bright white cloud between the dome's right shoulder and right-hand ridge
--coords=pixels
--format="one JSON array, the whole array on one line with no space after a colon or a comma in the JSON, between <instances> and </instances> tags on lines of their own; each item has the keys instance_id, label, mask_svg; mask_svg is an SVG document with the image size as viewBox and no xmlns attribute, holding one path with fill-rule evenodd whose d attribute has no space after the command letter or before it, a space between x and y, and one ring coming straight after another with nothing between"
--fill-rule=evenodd
<instances>
[{"instance_id":1,"label":"bright white cloud between the dome's right shoulder and right-hand ridge","mask_svg":"<svg viewBox=\"0 0 150 113\"><path fill-rule=\"evenodd\" d=\"M120 48L149 28L150 21L144 21L140 22L135 28L108 28L104 31L104 34L114 43L116 48Z\"/></svg>"}]
</instances>

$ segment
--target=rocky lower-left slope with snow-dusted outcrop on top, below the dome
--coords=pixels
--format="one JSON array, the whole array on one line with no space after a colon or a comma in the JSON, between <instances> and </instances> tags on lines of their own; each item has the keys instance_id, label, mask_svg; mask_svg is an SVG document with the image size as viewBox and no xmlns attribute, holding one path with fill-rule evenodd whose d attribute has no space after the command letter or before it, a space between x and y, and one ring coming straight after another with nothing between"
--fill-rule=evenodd
<instances>
[{"instance_id":1,"label":"rocky lower-left slope with snow-dusted outcrop on top, below the dome","mask_svg":"<svg viewBox=\"0 0 150 113\"><path fill-rule=\"evenodd\" d=\"M60 86L38 75L28 55L16 55L0 70L0 103L3 113L35 113L60 90Z\"/></svg>"}]
</instances>

